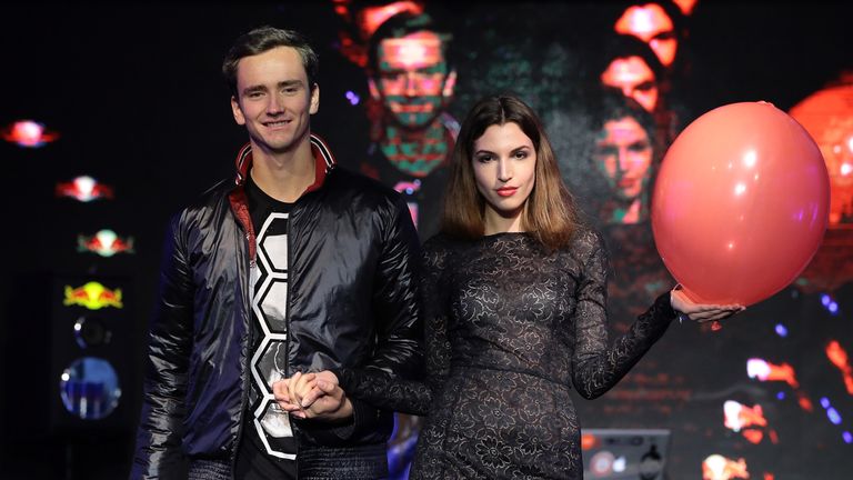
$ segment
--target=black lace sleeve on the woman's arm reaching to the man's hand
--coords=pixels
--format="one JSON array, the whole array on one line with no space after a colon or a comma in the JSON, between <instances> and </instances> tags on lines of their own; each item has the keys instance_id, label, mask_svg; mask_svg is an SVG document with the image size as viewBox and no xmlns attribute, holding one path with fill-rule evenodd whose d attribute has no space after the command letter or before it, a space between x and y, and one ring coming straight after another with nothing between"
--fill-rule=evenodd
<instances>
[{"instance_id":1,"label":"black lace sleeve on the woman's arm reaching to the man's hand","mask_svg":"<svg viewBox=\"0 0 853 480\"><path fill-rule=\"evenodd\" d=\"M348 396L382 409L429 414L433 393L442 388L450 371L448 286L443 281L449 251L443 243L433 238L423 248L419 301L424 328L425 379L394 379L378 369L341 368L334 372Z\"/></svg>"}]
</instances>

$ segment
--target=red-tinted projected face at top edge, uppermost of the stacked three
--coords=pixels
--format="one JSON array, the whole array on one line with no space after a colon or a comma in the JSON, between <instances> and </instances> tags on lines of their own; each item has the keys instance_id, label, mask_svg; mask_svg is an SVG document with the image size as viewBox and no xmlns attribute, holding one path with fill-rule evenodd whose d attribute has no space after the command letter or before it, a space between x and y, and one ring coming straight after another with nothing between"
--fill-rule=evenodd
<instances>
[{"instance_id":1,"label":"red-tinted projected face at top edge, uppermost of the stacked three","mask_svg":"<svg viewBox=\"0 0 853 480\"><path fill-rule=\"evenodd\" d=\"M658 3L630 7L616 20L616 33L632 34L649 43L664 67L675 60L679 40L672 19Z\"/></svg>"}]
</instances>

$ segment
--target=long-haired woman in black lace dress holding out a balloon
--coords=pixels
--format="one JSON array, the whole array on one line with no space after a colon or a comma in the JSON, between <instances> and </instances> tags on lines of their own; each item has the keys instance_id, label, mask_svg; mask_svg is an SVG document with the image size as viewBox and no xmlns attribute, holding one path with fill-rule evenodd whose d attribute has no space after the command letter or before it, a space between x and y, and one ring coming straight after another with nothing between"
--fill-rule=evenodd
<instances>
[{"instance_id":1,"label":"long-haired woman in black lace dress holding out a balloon","mask_svg":"<svg viewBox=\"0 0 853 480\"><path fill-rule=\"evenodd\" d=\"M425 382L340 369L277 391L303 418L299 403L337 379L353 398L429 414L412 479L581 478L571 386L608 391L676 310L706 321L741 309L673 290L609 346L601 238L578 223L544 129L515 97L481 100L462 124L442 220L424 244Z\"/></svg>"}]
</instances>

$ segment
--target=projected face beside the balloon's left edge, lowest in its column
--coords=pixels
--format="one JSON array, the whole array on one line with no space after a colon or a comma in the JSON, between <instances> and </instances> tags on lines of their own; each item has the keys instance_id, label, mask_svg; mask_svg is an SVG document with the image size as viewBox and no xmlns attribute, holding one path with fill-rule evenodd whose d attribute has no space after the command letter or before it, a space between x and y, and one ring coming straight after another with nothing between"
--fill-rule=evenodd
<instances>
[{"instance_id":1,"label":"projected face beside the balloon's left edge, lowest in its column","mask_svg":"<svg viewBox=\"0 0 853 480\"><path fill-rule=\"evenodd\" d=\"M595 146L594 159L616 197L634 200L651 173L652 143L633 117L610 120Z\"/></svg>"}]
</instances>

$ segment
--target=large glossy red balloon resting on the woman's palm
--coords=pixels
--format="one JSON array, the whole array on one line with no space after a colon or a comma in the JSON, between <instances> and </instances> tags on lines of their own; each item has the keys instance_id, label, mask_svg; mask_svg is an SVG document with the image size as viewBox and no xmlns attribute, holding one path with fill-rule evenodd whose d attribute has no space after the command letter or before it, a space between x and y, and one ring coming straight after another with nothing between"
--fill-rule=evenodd
<instances>
[{"instance_id":1,"label":"large glossy red balloon resting on the woman's palm","mask_svg":"<svg viewBox=\"0 0 853 480\"><path fill-rule=\"evenodd\" d=\"M766 102L732 103L688 126L661 164L652 230L691 299L753 304L809 264L829 220L821 151Z\"/></svg>"}]
</instances>

